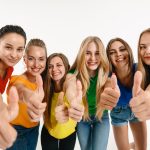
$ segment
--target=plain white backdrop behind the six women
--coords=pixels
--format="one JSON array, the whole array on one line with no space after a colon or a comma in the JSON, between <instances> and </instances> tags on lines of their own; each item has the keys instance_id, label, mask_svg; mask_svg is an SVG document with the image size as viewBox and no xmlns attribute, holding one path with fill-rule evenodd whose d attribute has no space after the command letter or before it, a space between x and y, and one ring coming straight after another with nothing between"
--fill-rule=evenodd
<instances>
[{"instance_id":1,"label":"plain white backdrop behind the six women","mask_svg":"<svg viewBox=\"0 0 150 150\"><path fill-rule=\"evenodd\" d=\"M111 38L125 39L133 48L137 61L139 34L150 27L150 1L0 0L0 27L6 24L22 26L28 40L43 39L48 54L63 52L70 64L73 63L82 40L89 35L99 36L105 46ZM23 62L20 62L15 67L14 74L20 74L23 70ZM149 128L148 122L148 139ZM130 140L132 141L131 134ZM37 150L40 149L39 141ZM78 142L75 149L80 149ZM112 130L108 150L116 150Z\"/></svg>"}]
</instances>

